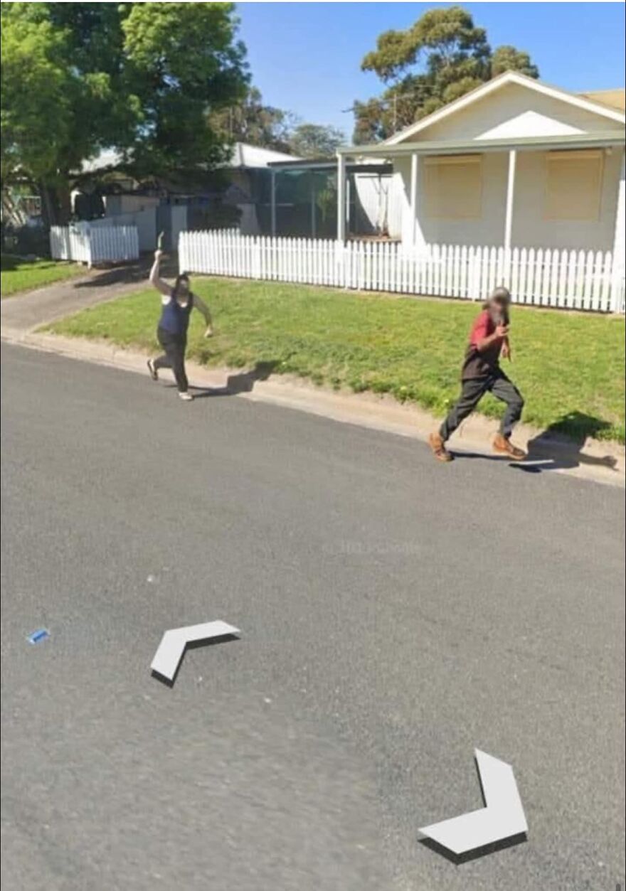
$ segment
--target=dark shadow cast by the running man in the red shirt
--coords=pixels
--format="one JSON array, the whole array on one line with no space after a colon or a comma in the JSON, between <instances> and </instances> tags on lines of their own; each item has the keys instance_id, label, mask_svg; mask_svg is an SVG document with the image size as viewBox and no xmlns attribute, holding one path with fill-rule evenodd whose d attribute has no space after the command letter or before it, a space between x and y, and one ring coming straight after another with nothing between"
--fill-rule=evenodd
<instances>
[{"instance_id":1,"label":"dark shadow cast by the running man in the red shirt","mask_svg":"<svg viewBox=\"0 0 626 891\"><path fill-rule=\"evenodd\" d=\"M511 466L515 467L515 470L523 470L524 473L570 470L580 467L581 464L616 471L617 458L614 455L597 457L582 452L587 437L597 439L599 433L610 427L608 421L602 421L593 415L569 412L550 424L539 436L529 439L527 461L512 463Z\"/></svg>"}]
</instances>

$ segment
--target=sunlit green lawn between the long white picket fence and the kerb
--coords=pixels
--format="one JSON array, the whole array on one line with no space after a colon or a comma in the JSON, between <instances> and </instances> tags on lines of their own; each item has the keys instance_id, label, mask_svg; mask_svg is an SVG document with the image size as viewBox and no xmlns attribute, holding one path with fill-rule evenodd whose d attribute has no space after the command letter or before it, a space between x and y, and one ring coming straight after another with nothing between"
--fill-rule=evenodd
<instances>
[{"instance_id":1,"label":"sunlit green lawn between the long white picket fence and the kerb","mask_svg":"<svg viewBox=\"0 0 626 891\"><path fill-rule=\"evenodd\" d=\"M443 414L457 397L467 332L479 307L457 301L279 282L198 278L216 336L202 339L194 313L188 355L208 365L269 363L334 388L390 393ZM145 290L86 309L52 326L70 336L156 351L159 295ZM624 441L624 320L515 308L514 363L526 399L523 420L572 437ZM492 397L482 413L497 416Z\"/></svg>"}]
</instances>

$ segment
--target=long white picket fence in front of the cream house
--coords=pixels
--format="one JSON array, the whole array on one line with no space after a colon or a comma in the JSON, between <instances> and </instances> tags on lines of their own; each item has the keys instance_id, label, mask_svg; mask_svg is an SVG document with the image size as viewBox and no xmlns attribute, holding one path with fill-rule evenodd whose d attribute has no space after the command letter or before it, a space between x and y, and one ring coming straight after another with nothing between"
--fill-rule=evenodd
<instances>
[{"instance_id":1,"label":"long white picket fence in front of the cream house","mask_svg":"<svg viewBox=\"0 0 626 891\"><path fill-rule=\"evenodd\" d=\"M506 284L516 303L624 311L624 272L610 251L268 238L237 230L184 232L181 271L358 290L482 299Z\"/></svg>"}]
</instances>

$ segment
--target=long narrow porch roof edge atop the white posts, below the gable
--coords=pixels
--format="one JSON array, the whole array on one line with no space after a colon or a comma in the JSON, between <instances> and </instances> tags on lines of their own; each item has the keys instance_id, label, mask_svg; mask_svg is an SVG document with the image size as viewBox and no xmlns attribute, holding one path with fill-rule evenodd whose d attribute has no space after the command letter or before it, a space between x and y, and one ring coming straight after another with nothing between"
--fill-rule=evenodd
<instances>
[{"instance_id":1,"label":"long narrow porch roof edge atop the white posts, below the gable","mask_svg":"<svg viewBox=\"0 0 626 891\"><path fill-rule=\"evenodd\" d=\"M346 158L375 156L399 158L412 154L465 155L483 151L541 151L548 149L589 149L624 144L624 132L608 130L599 133L568 134L560 136L517 136L508 139L440 140L416 143L375 143L372 145L345 145L337 150Z\"/></svg>"}]
</instances>

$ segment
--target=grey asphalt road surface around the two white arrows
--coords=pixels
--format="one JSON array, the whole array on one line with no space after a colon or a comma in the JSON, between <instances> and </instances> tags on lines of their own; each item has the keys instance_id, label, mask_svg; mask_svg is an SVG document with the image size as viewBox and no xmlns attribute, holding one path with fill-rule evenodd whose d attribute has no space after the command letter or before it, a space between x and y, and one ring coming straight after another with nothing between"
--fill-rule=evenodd
<instances>
[{"instance_id":1,"label":"grey asphalt road surface around the two white arrows","mask_svg":"<svg viewBox=\"0 0 626 891\"><path fill-rule=\"evenodd\" d=\"M20 347L2 462L5 887L623 883L621 490ZM529 833L455 864L474 747Z\"/></svg>"}]
</instances>

